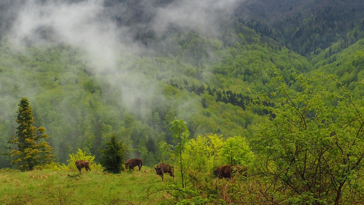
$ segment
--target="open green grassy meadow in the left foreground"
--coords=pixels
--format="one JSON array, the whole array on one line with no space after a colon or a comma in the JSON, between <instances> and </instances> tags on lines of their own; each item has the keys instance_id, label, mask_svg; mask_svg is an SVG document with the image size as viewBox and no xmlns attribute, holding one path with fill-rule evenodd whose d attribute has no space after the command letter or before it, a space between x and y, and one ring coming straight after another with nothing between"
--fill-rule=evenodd
<instances>
[{"instance_id":1,"label":"open green grassy meadow in the left foreground","mask_svg":"<svg viewBox=\"0 0 364 205\"><path fill-rule=\"evenodd\" d=\"M147 193L162 186L161 177L150 167L141 171L107 174L100 170L79 177L78 171L0 170L1 204L157 204L162 193ZM170 177L166 176L168 181Z\"/></svg>"}]
</instances>

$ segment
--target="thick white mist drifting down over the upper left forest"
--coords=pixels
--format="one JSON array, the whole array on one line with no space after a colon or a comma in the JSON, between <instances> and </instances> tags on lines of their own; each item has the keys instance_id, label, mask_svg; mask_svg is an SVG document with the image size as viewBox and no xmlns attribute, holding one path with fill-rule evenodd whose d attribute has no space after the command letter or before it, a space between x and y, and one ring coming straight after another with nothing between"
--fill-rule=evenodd
<instances>
[{"instance_id":1,"label":"thick white mist drifting down over the upper left forest","mask_svg":"<svg viewBox=\"0 0 364 205\"><path fill-rule=\"evenodd\" d=\"M12 8L15 8L13 12L17 16L8 35L16 45L52 42L82 49L87 54L88 67L96 73L113 73L108 80L122 88L124 96L120 99L131 106L133 99L151 97L155 90L154 82L147 87L139 86L139 82L145 81L144 76L130 75L123 65L118 65L123 52L153 54L153 50L135 39L138 33L151 31L160 36L174 26L217 35L216 22L236 3L238 0L175 0L170 3L149 0L27 0L18 5L14 3Z\"/></svg>"}]
</instances>

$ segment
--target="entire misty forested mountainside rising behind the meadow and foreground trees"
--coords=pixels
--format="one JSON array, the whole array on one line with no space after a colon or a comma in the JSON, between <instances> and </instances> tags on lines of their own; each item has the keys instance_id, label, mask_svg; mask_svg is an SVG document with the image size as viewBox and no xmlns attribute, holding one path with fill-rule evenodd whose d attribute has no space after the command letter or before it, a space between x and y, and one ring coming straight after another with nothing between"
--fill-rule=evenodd
<instances>
[{"instance_id":1,"label":"entire misty forested mountainside rising behind the meadow and foreground trees","mask_svg":"<svg viewBox=\"0 0 364 205\"><path fill-rule=\"evenodd\" d=\"M33 1L24 8L0 2L7 11L0 15L2 146L15 134L17 103L24 96L36 126L47 129L58 162L66 163L78 148L97 160L107 134L116 132L130 139L137 149L132 155L150 166L161 160L159 144L173 143L169 123L174 116L187 122L192 137L211 132L252 138L252 125L269 111L248 109L249 104L261 91L274 91L266 75L273 66L292 88L298 89L292 72L327 72L356 98L362 96L363 59L356 54L363 50L361 1L242 1L226 10L213 7L219 18L212 18L218 19L215 25L201 18L206 27L198 20L155 24L173 16L161 19L161 10L176 9L182 1L64 1L59 7L67 12L73 7L78 13L80 8L94 12L96 24L86 19L81 23L91 29L80 32L74 30L82 24L75 18L67 22L71 15L52 12L49 2ZM49 15L49 22L34 15L36 9ZM21 24L25 17L35 23L29 29ZM114 47L119 40L122 46ZM0 162L9 165L4 156Z\"/></svg>"}]
</instances>

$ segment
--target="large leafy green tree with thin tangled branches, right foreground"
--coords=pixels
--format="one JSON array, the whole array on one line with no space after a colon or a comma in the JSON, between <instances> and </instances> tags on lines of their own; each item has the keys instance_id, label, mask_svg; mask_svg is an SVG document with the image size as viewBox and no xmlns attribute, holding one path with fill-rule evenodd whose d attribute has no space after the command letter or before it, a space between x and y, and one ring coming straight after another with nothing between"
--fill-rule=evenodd
<instances>
[{"instance_id":1,"label":"large leafy green tree with thin tangled branches, right foreground","mask_svg":"<svg viewBox=\"0 0 364 205\"><path fill-rule=\"evenodd\" d=\"M276 106L266 109L275 117L260 123L252 140L261 159L257 173L275 184L264 196L284 204L360 201L355 187L363 183L363 102L355 102L333 76L304 78L293 73L301 87L294 92L277 69L269 73L276 92L263 99L274 101ZM317 81L334 81L343 94L314 86Z\"/></svg>"}]
</instances>

